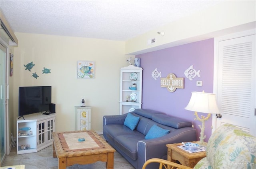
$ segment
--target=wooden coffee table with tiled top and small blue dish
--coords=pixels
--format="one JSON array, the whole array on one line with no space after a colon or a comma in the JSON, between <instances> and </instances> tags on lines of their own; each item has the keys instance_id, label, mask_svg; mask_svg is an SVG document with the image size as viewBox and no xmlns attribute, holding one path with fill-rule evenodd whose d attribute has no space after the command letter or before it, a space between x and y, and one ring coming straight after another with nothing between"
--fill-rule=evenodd
<instances>
[{"instance_id":1,"label":"wooden coffee table with tiled top and small blue dish","mask_svg":"<svg viewBox=\"0 0 256 169\"><path fill-rule=\"evenodd\" d=\"M106 169L114 169L113 149L95 131L53 132L53 157L58 157L58 168L74 164L90 164L96 161L106 162ZM85 138L85 141L78 141Z\"/></svg>"}]
</instances>

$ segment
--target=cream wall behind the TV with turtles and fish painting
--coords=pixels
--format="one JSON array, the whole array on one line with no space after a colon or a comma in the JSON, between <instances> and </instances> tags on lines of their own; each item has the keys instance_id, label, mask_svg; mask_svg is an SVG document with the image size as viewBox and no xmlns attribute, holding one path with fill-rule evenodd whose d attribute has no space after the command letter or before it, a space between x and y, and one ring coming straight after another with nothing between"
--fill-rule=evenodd
<instances>
[{"instance_id":1,"label":"cream wall behind the TV with turtles and fish painting","mask_svg":"<svg viewBox=\"0 0 256 169\"><path fill-rule=\"evenodd\" d=\"M81 99L92 107L91 127L102 131L102 116L119 114L121 67L127 66L124 42L66 36L15 33L19 40L14 48L14 128L18 116L19 86L52 86L52 103L56 103L56 131L75 129L74 106ZM132 56L134 57L134 56ZM94 79L77 79L77 61L93 61ZM31 72L24 64L32 62ZM42 74L43 68L51 69ZM32 77L36 72L38 78ZM16 132L15 132L16 133Z\"/></svg>"}]
</instances>

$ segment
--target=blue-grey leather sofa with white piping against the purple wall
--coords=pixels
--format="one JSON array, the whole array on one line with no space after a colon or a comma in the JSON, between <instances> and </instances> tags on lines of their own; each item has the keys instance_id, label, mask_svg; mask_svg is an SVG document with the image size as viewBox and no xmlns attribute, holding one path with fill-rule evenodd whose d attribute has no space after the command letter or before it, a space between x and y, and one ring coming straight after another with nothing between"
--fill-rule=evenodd
<instances>
[{"instance_id":1,"label":"blue-grey leather sofa with white piping against the purple wall","mask_svg":"<svg viewBox=\"0 0 256 169\"><path fill-rule=\"evenodd\" d=\"M146 160L151 158L167 159L166 144L196 141L196 130L190 121L166 115L150 109L135 109L130 112L139 117L134 130L126 127L126 114L104 115L103 136L136 169L142 169ZM167 129L170 133L153 139L145 139L153 125ZM148 165L153 169L156 164Z\"/></svg>"}]
</instances>

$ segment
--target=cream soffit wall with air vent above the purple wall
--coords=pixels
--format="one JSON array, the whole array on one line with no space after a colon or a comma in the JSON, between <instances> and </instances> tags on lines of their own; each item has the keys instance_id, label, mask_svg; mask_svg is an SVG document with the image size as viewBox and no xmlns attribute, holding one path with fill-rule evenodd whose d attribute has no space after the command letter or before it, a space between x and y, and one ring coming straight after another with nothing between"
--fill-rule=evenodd
<instances>
[{"instance_id":1,"label":"cream soffit wall with air vent above the purple wall","mask_svg":"<svg viewBox=\"0 0 256 169\"><path fill-rule=\"evenodd\" d=\"M126 41L125 54L143 54L256 27L256 1L221 1L216 6ZM164 36L157 32L164 31ZM148 40L156 39L148 45Z\"/></svg>"}]
</instances>

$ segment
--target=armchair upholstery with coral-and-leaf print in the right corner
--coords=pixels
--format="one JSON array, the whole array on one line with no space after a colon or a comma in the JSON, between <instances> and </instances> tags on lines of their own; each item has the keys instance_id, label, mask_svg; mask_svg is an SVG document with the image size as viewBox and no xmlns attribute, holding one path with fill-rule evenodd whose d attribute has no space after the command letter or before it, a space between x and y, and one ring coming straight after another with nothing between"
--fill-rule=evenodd
<instances>
[{"instance_id":1,"label":"armchair upholstery with coral-and-leaf print in the right corner","mask_svg":"<svg viewBox=\"0 0 256 169\"><path fill-rule=\"evenodd\" d=\"M211 135L206 157L194 169L255 169L256 137L233 125L222 125Z\"/></svg>"}]
</instances>

